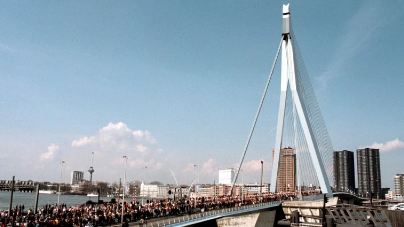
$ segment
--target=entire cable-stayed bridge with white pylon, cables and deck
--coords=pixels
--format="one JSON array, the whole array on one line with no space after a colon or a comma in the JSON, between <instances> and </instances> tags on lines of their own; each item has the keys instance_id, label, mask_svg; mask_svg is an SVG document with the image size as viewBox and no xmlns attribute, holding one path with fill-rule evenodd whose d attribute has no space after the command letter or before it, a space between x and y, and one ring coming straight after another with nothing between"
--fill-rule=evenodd
<instances>
[{"instance_id":1,"label":"entire cable-stayed bridge with white pylon, cables and deck","mask_svg":"<svg viewBox=\"0 0 404 227\"><path fill-rule=\"evenodd\" d=\"M324 226L326 215L331 221L331 226L334 223L364 226L371 221L377 226L399 226L400 221L397 221L399 218L397 219L396 216L404 217L403 213L387 214L387 211L384 212L378 208L355 206L354 204L362 203L367 199L346 192L333 193L331 190L333 184L332 152L334 149L292 30L289 5L283 6L281 40L228 195L233 192L233 187L237 182L279 53L281 53L281 95L270 192L282 191L280 186L286 184L281 182L278 173L282 144L287 141L289 147L294 150L293 156L296 165L296 177L291 188L301 192L303 187L319 186L322 193L327 194L331 200L327 203L327 208L325 208L326 204L323 205L322 200L316 201L319 198L312 196L302 198L306 201L285 201L284 203L274 201L156 219L149 221L148 226L259 227L278 226L279 223L291 225L292 219L297 221L293 222L294 226L321 226L321 221ZM296 186L294 186L295 183L297 183ZM281 217L295 217L296 212L298 213L297 220L296 218L291 218L289 222L280 220ZM311 221L311 223L296 225L300 220ZM278 223L278 221L280 222Z\"/></svg>"}]
</instances>

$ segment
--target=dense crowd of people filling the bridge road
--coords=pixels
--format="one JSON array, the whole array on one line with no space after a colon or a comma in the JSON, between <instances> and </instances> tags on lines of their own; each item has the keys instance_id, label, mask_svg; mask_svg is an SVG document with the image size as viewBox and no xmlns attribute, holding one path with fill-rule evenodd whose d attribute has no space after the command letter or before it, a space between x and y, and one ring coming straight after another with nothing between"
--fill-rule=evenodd
<instances>
[{"instance_id":1,"label":"dense crowd of people filling the bridge road","mask_svg":"<svg viewBox=\"0 0 404 227\"><path fill-rule=\"evenodd\" d=\"M304 191L302 195L318 193L318 191ZM150 218L295 199L295 193L285 192L265 193L261 196L251 194L245 196L196 197L176 199L175 201L171 198L166 198L147 200L144 204L133 200L125 202L123 206L122 203L113 202L77 206L46 204L39 208L37 213L34 213L31 209L24 211L23 206L16 206L12 208L11 215L8 215L8 212L4 210L1 212L0 227L97 227L121 223L122 218L124 220L123 227L126 227L130 221L146 223L147 219Z\"/></svg>"}]
</instances>

